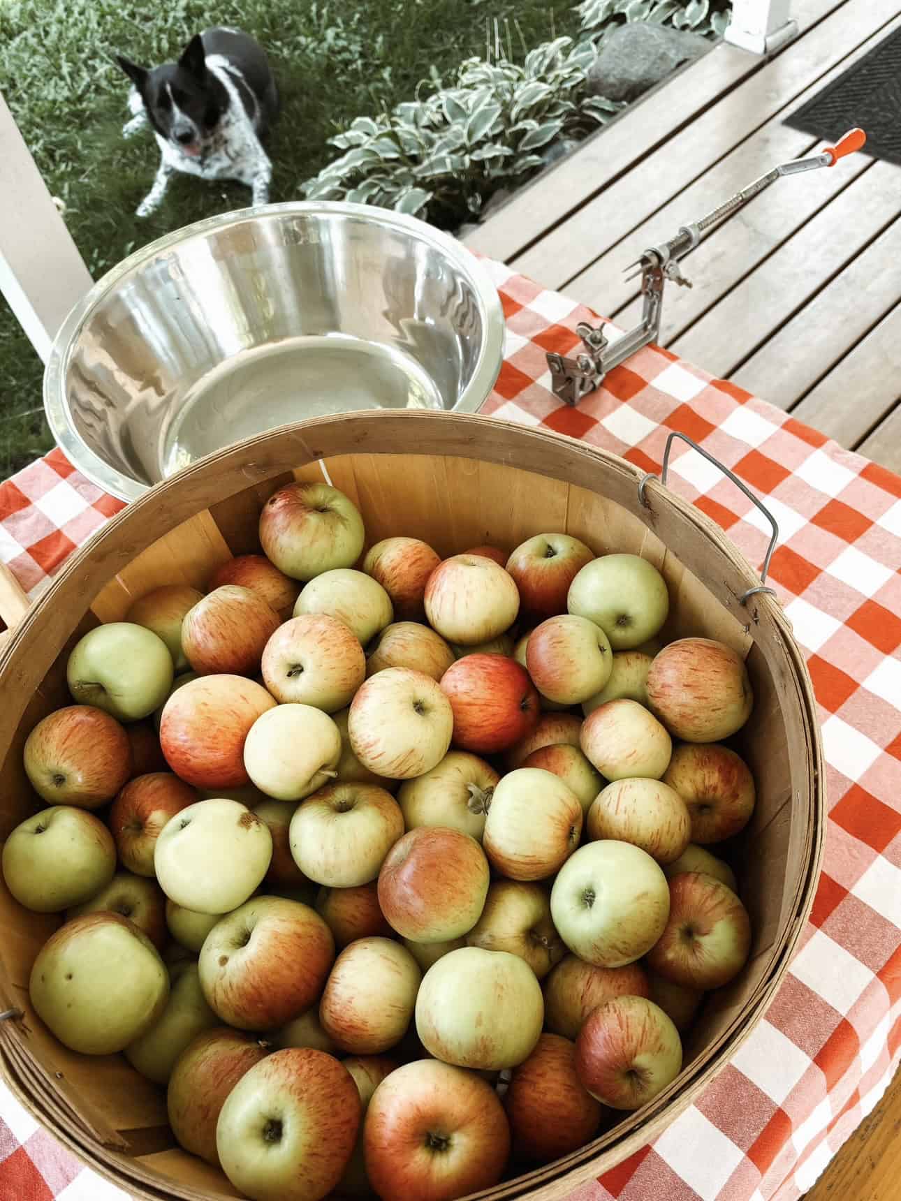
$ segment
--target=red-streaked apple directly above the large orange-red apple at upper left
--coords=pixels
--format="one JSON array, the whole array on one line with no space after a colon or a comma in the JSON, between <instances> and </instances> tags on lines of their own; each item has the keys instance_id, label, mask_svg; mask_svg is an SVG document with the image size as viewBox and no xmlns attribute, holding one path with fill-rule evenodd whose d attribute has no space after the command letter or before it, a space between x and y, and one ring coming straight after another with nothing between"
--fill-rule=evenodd
<instances>
[{"instance_id":1,"label":"red-streaked apple directly above the large orange-red apple at upper left","mask_svg":"<svg viewBox=\"0 0 901 1201\"><path fill-rule=\"evenodd\" d=\"M185 614L181 645L201 675L253 675L279 628L278 613L258 592L223 584Z\"/></svg>"}]
</instances>

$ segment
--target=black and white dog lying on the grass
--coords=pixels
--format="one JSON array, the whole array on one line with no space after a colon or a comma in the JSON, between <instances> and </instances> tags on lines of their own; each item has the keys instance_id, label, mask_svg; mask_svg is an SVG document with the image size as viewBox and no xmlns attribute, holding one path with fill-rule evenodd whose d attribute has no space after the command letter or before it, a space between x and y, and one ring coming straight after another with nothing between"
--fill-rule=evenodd
<instances>
[{"instance_id":1,"label":"black and white dog lying on the grass","mask_svg":"<svg viewBox=\"0 0 901 1201\"><path fill-rule=\"evenodd\" d=\"M154 186L137 208L149 216L162 202L172 173L237 179L253 204L269 199L272 162L262 138L279 110L279 94L263 48L238 29L196 34L178 62L139 67L121 54L135 86L126 137L150 123L162 155Z\"/></svg>"}]
</instances>

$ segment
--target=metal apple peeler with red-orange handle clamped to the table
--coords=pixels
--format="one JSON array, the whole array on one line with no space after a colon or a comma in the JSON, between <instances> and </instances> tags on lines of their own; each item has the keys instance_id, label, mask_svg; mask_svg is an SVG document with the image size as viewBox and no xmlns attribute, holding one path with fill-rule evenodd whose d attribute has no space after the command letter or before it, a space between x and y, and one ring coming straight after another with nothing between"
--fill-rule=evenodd
<instances>
[{"instance_id":1,"label":"metal apple peeler with red-orange handle clamped to the table","mask_svg":"<svg viewBox=\"0 0 901 1201\"><path fill-rule=\"evenodd\" d=\"M692 286L691 281L682 275L679 263L694 250L711 229L722 225L727 217L738 213L748 201L759 196L782 175L799 175L806 171L817 171L819 167L834 167L840 159L860 150L865 143L866 133L863 130L849 130L834 147L827 147L825 150L807 159L794 159L792 162L783 162L780 167L774 167L772 171L760 175L742 191L736 192L732 199L726 201L712 213L708 213L700 221L682 226L675 238L646 250L638 262L631 263L626 268L627 271L634 267L640 268L629 279L642 276L642 295L644 297L642 321L613 345L604 335L604 322L597 327L590 325L587 322L579 322L575 333L581 337L584 349L578 351L574 358L563 354L548 354L554 394L567 405L578 405L583 396L598 387L608 371L631 358L642 347L657 341L663 311L663 288L667 280L672 280L680 287L690 288Z\"/></svg>"}]
</instances>

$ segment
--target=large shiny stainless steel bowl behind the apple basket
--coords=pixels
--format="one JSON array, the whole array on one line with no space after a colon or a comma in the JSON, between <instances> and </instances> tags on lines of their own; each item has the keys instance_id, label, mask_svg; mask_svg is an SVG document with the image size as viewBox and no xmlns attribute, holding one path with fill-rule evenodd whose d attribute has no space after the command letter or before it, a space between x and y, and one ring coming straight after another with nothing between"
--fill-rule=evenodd
<instances>
[{"instance_id":1,"label":"large shiny stainless steel bowl behind the apple basket","mask_svg":"<svg viewBox=\"0 0 901 1201\"><path fill-rule=\"evenodd\" d=\"M133 500L262 430L360 408L475 412L503 315L478 261L414 217L270 204L199 221L113 268L44 372L56 441Z\"/></svg>"}]
</instances>

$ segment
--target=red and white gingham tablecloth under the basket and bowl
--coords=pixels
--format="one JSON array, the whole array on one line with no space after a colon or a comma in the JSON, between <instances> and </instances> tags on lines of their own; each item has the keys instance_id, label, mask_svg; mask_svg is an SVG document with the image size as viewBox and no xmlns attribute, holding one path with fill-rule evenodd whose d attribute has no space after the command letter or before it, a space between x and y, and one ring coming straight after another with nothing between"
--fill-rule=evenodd
<instances>
[{"instance_id":1,"label":"red and white gingham tablecloth under the basket and bowl","mask_svg":"<svg viewBox=\"0 0 901 1201\"><path fill-rule=\"evenodd\" d=\"M561 405L545 352L572 351L575 323L593 315L488 267L507 345L484 413L654 472L667 435L681 430L765 496L781 532L771 582L807 655L828 763L823 877L766 1018L660 1139L569 1201L795 1201L876 1106L901 1050L901 478L656 348L578 408ZM681 443L670 485L760 562L768 527L757 509ZM119 507L55 450L0 484L0 558L36 597ZM0 1201L123 1196L0 1085Z\"/></svg>"}]
</instances>

